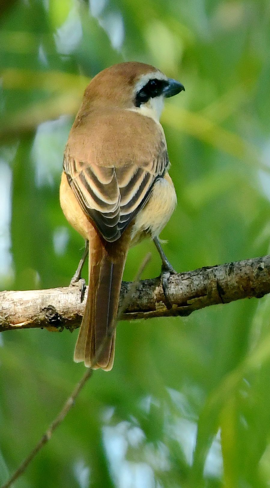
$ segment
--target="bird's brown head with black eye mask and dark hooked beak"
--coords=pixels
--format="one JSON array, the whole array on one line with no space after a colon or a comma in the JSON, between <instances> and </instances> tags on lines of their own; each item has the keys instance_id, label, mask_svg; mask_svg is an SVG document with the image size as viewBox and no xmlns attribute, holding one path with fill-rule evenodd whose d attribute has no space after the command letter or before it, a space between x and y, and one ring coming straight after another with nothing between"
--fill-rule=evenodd
<instances>
[{"instance_id":1,"label":"bird's brown head with black eye mask and dark hooked beak","mask_svg":"<svg viewBox=\"0 0 270 488\"><path fill-rule=\"evenodd\" d=\"M164 98L185 90L184 86L150 64L123 62L100 71L84 93L84 108L135 110L159 120Z\"/></svg>"}]
</instances>

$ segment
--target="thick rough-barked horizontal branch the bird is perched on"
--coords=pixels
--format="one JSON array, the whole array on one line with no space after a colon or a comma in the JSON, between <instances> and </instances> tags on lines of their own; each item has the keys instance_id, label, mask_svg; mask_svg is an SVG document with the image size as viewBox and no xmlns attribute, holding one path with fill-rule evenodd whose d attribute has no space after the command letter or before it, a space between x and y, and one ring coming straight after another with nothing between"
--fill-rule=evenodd
<instances>
[{"instance_id":1,"label":"thick rough-barked horizontal branch the bird is perched on","mask_svg":"<svg viewBox=\"0 0 270 488\"><path fill-rule=\"evenodd\" d=\"M132 283L123 282L119 306ZM209 266L169 277L166 297L160 278L140 281L123 320L187 316L209 305L270 293L270 255L219 266ZM76 287L0 292L0 332L46 327L78 327L84 310ZM165 305L167 304L167 306Z\"/></svg>"}]
</instances>

